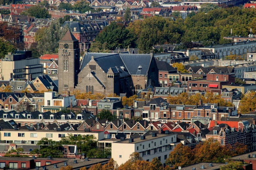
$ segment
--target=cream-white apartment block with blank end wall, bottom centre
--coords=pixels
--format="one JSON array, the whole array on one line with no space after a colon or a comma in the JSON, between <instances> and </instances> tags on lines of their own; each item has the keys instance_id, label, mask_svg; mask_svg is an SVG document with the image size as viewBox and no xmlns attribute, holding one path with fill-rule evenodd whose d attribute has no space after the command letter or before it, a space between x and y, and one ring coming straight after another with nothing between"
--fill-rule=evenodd
<instances>
[{"instance_id":1,"label":"cream-white apartment block with blank end wall, bottom centre","mask_svg":"<svg viewBox=\"0 0 256 170\"><path fill-rule=\"evenodd\" d=\"M111 156L118 165L128 161L133 152L139 152L145 161L158 158L162 163L165 163L170 151L179 143L177 142L177 134L153 133L112 143Z\"/></svg>"}]
</instances>

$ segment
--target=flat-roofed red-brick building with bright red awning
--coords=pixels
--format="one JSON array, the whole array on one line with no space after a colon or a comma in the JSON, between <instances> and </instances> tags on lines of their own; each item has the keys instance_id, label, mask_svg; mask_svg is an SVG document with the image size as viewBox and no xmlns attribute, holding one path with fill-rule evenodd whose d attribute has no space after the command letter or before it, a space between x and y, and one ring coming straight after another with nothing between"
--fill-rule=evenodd
<instances>
[{"instance_id":1,"label":"flat-roofed red-brick building with bright red awning","mask_svg":"<svg viewBox=\"0 0 256 170\"><path fill-rule=\"evenodd\" d=\"M207 74L206 79L188 80L188 91L211 91L211 89L222 89L223 85L235 82L233 74Z\"/></svg>"}]
</instances>

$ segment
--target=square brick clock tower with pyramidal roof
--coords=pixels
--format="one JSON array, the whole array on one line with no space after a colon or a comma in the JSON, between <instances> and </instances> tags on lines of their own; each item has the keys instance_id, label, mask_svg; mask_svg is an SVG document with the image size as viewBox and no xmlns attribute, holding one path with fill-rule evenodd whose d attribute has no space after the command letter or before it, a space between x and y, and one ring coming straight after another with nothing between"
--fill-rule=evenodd
<instances>
[{"instance_id":1,"label":"square brick clock tower with pyramidal roof","mask_svg":"<svg viewBox=\"0 0 256 170\"><path fill-rule=\"evenodd\" d=\"M59 93L73 92L77 85L77 74L79 73L80 49L79 41L70 30L59 41L58 57Z\"/></svg>"}]
</instances>

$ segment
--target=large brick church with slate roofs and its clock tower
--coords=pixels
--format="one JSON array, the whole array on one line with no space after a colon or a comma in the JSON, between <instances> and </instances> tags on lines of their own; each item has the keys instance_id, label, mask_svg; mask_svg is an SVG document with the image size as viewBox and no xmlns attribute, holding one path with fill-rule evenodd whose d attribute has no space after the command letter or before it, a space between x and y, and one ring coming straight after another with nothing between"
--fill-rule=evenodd
<instances>
[{"instance_id":1,"label":"large brick church with slate roofs and its clock tower","mask_svg":"<svg viewBox=\"0 0 256 170\"><path fill-rule=\"evenodd\" d=\"M79 64L79 42L68 31L59 41L59 93L80 92L137 94L148 85L158 86L153 53L91 53Z\"/></svg>"}]
</instances>

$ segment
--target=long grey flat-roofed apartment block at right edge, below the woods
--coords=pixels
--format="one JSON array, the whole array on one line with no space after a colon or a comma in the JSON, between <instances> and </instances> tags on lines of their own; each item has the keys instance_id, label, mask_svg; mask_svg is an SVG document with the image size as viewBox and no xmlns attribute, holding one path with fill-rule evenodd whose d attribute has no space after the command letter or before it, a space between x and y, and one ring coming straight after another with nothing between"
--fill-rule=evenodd
<instances>
[{"instance_id":1,"label":"long grey flat-roofed apartment block at right edge, below the woods","mask_svg":"<svg viewBox=\"0 0 256 170\"><path fill-rule=\"evenodd\" d=\"M214 45L208 47L199 47L198 49L208 49L211 50L213 53L219 55L220 58L225 59L226 56L229 55L247 55L248 53L255 52L255 45L256 42L254 41L243 41L243 42L235 42L235 43L228 43L228 44L221 44L221 45Z\"/></svg>"}]
</instances>

